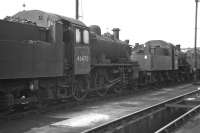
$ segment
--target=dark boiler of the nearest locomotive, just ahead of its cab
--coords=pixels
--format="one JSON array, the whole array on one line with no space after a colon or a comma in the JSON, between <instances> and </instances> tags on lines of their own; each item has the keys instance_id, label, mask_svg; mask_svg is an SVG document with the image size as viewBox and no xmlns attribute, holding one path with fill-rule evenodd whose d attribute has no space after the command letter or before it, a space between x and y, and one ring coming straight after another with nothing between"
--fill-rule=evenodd
<instances>
[{"instance_id":1,"label":"dark boiler of the nearest locomotive, just ahead of its cab","mask_svg":"<svg viewBox=\"0 0 200 133\"><path fill-rule=\"evenodd\" d=\"M126 42L93 33L90 43L92 64L130 61L131 47Z\"/></svg>"}]
</instances>

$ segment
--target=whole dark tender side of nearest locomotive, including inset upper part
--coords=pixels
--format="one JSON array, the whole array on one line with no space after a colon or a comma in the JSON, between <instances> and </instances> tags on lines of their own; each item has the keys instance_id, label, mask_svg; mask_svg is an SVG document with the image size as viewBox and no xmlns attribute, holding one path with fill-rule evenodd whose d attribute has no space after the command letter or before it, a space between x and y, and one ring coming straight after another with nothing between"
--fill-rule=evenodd
<instances>
[{"instance_id":1,"label":"whole dark tender side of nearest locomotive, including inset upper part","mask_svg":"<svg viewBox=\"0 0 200 133\"><path fill-rule=\"evenodd\" d=\"M63 75L62 24L45 30L36 25L0 21L0 27L5 29L0 31L0 79Z\"/></svg>"}]
</instances>

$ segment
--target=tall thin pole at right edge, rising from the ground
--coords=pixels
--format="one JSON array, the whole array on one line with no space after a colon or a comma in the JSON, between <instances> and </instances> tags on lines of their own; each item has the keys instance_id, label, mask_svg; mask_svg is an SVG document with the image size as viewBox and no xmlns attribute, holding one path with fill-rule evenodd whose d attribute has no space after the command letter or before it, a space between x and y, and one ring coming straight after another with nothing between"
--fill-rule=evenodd
<instances>
[{"instance_id":1,"label":"tall thin pole at right edge, rising from the ground","mask_svg":"<svg viewBox=\"0 0 200 133\"><path fill-rule=\"evenodd\" d=\"M195 0L195 35L194 35L194 81L197 81L197 16L198 16L198 1Z\"/></svg>"}]
</instances>

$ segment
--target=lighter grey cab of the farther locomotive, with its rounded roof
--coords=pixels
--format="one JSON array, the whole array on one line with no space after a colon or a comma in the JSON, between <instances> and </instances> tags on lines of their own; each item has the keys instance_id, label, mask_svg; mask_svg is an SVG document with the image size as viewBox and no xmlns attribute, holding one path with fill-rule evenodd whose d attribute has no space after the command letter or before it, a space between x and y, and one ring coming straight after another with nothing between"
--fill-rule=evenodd
<instances>
[{"instance_id":1,"label":"lighter grey cab of the farther locomotive, with its rounded roof","mask_svg":"<svg viewBox=\"0 0 200 133\"><path fill-rule=\"evenodd\" d=\"M148 41L132 51L132 61L138 61L143 71L177 70L175 47L161 40Z\"/></svg>"}]
</instances>

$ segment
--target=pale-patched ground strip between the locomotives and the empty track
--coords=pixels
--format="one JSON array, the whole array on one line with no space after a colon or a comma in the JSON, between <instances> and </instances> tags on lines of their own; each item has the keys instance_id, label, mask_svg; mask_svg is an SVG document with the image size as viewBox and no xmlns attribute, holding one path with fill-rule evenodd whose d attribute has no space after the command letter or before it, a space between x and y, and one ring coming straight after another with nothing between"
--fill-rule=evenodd
<instances>
[{"instance_id":1,"label":"pale-patched ground strip between the locomotives and the empty track","mask_svg":"<svg viewBox=\"0 0 200 133\"><path fill-rule=\"evenodd\" d=\"M0 124L0 133L77 133L169 98L196 90L191 84L102 100ZM200 120L199 120L200 121ZM199 130L200 131L200 130ZM179 133L179 132L178 132ZM185 132L184 132L185 133Z\"/></svg>"}]
</instances>

